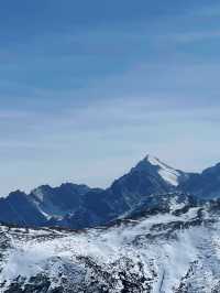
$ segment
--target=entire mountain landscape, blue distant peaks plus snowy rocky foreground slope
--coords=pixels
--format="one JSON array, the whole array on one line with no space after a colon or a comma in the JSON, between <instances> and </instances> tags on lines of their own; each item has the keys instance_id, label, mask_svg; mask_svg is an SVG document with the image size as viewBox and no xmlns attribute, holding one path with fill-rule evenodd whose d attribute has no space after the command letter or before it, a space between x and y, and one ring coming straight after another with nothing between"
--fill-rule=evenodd
<instances>
[{"instance_id":1,"label":"entire mountain landscape, blue distant peaks plus snowy rocky foreground slope","mask_svg":"<svg viewBox=\"0 0 220 293\"><path fill-rule=\"evenodd\" d=\"M0 199L2 293L220 292L220 165L147 155L107 189L72 183Z\"/></svg>"}]
</instances>

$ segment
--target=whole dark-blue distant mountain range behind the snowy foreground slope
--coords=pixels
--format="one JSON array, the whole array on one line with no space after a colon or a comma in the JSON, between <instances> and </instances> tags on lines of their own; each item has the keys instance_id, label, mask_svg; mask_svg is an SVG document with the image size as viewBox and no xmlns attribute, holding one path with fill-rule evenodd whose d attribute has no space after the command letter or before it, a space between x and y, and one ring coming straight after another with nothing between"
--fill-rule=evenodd
<instances>
[{"instance_id":1,"label":"whole dark-blue distant mountain range behind the snowy foreground slope","mask_svg":"<svg viewBox=\"0 0 220 293\"><path fill-rule=\"evenodd\" d=\"M160 207L162 195L178 193L207 200L220 196L220 164L202 173L175 170L146 155L107 189L73 183L43 185L30 194L0 198L0 221L32 227L81 229L114 221L136 209Z\"/></svg>"}]
</instances>

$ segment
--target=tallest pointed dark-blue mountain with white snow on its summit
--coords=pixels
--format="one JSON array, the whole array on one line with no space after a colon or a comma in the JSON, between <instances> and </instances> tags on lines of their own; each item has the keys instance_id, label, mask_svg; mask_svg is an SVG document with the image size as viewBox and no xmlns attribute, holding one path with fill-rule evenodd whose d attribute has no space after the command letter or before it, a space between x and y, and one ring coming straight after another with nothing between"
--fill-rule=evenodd
<instances>
[{"instance_id":1,"label":"tallest pointed dark-blue mountain with white snow on its summit","mask_svg":"<svg viewBox=\"0 0 220 293\"><path fill-rule=\"evenodd\" d=\"M132 210L142 200L147 202L151 195L175 191L188 177L189 174L147 155L106 191L87 193L84 205L73 215L67 215L59 225L84 228L106 224Z\"/></svg>"}]
</instances>

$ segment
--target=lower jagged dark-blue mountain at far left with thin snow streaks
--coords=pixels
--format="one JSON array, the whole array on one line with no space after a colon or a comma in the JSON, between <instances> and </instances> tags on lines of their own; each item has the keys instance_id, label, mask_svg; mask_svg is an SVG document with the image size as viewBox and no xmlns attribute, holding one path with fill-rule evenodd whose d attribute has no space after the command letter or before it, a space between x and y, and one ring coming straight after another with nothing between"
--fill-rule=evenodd
<instances>
[{"instance_id":1,"label":"lower jagged dark-blue mountain at far left with thin snow streaks","mask_svg":"<svg viewBox=\"0 0 220 293\"><path fill-rule=\"evenodd\" d=\"M66 183L55 188L40 186L29 195L13 192L0 198L0 221L46 226L52 217L63 217L78 209L88 191L86 185Z\"/></svg>"}]
</instances>

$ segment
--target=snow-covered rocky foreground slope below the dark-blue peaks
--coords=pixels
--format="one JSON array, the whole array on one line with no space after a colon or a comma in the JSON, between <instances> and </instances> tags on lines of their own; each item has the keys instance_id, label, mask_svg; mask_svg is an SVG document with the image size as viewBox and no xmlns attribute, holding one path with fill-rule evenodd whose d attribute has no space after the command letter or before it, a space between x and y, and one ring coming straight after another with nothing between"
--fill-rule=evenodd
<instances>
[{"instance_id":1,"label":"snow-covered rocky foreground slope below the dark-blue peaks","mask_svg":"<svg viewBox=\"0 0 220 293\"><path fill-rule=\"evenodd\" d=\"M219 292L220 203L175 198L99 229L0 226L1 292Z\"/></svg>"}]
</instances>

